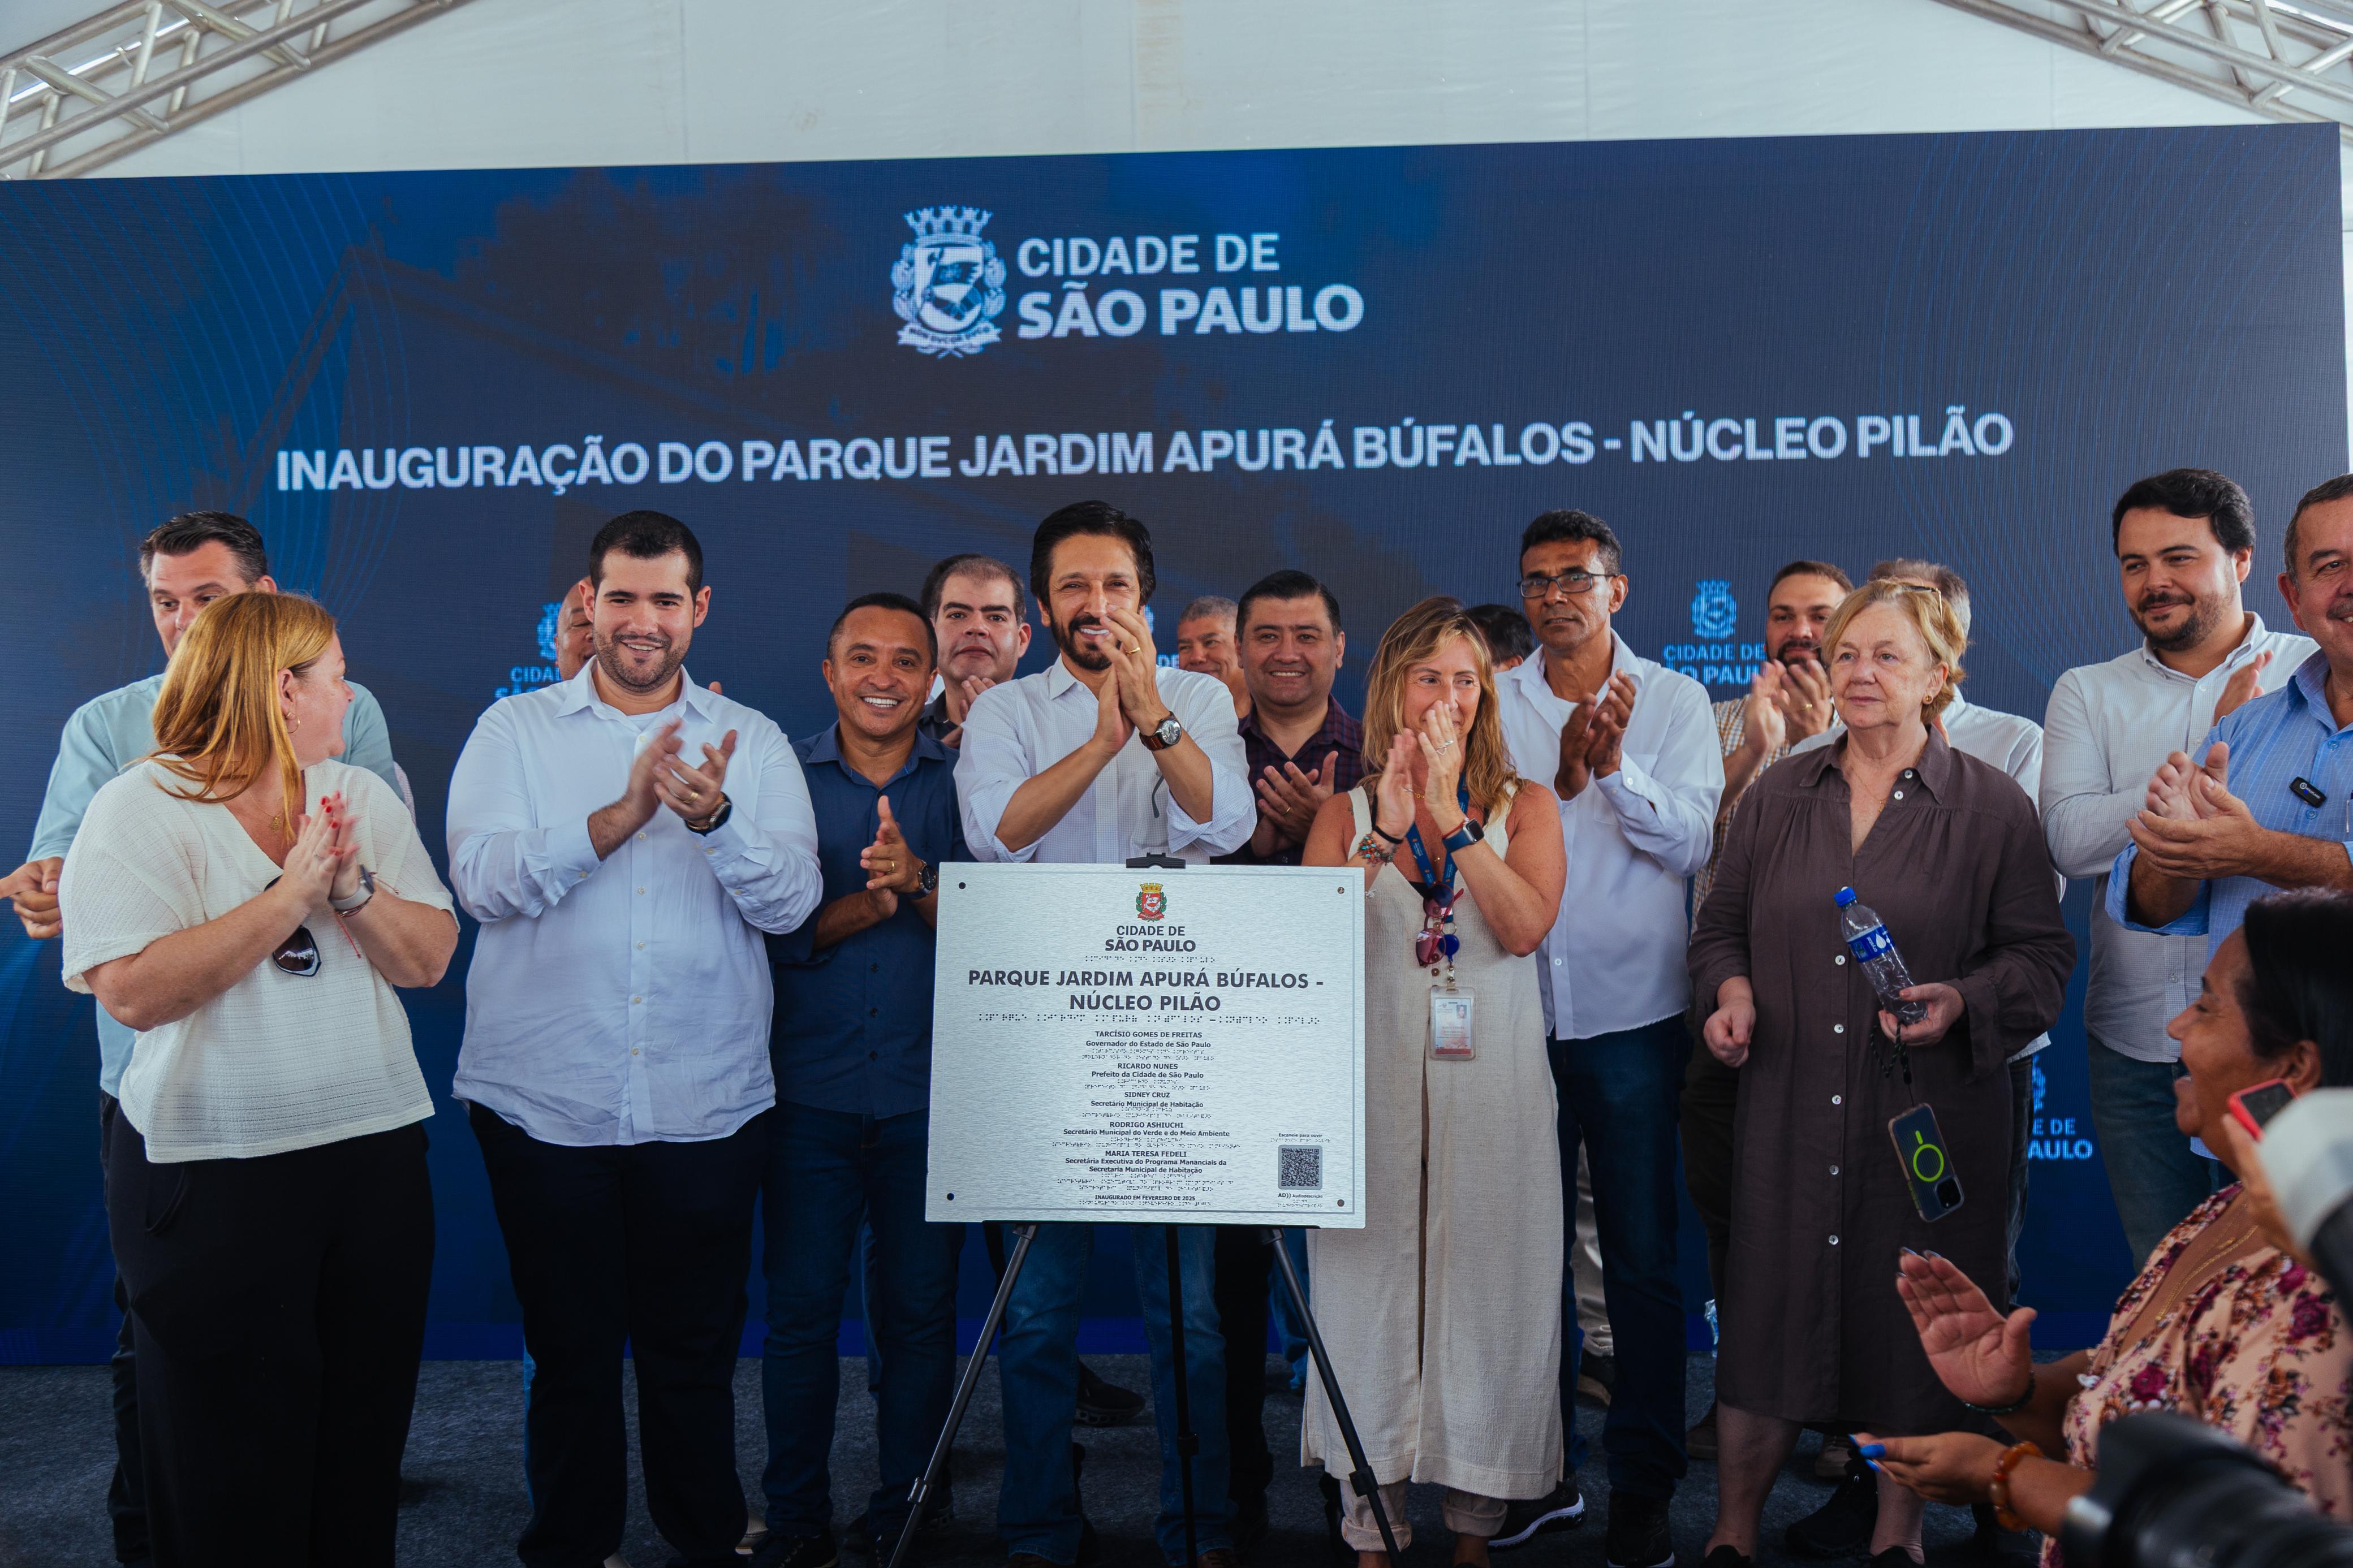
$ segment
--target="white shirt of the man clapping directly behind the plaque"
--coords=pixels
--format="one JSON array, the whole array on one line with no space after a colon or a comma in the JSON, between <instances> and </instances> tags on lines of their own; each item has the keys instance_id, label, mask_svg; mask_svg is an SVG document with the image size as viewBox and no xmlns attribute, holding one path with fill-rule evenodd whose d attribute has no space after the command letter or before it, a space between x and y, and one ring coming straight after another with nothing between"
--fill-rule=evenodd
<instances>
[{"instance_id":1,"label":"white shirt of the man clapping directly behind the plaque","mask_svg":"<svg viewBox=\"0 0 2353 1568\"><path fill-rule=\"evenodd\" d=\"M1160 701L1209 757L1209 820L1195 823L1169 795L1160 764L1129 736L1087 792L1024 849L998 842L1014 790L1094 736L1096 698L1059 658L1038 675L991 686L965 712L955 759L955 804L974 860L1118 865L1132 856L1176 856L1200 865L1249 842L1259 806L1249 759L1233 719L1233 693L1214 675L1158 670Z\"/></svg>"}]
</instances>

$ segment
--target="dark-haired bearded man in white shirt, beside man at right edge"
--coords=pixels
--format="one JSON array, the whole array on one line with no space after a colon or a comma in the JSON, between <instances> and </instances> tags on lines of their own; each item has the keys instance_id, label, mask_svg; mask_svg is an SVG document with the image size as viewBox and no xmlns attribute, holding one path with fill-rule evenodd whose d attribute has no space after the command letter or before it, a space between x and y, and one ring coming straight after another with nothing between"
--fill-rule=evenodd
<instances>
[{"instance_id":1,"label":"dark-haired bearded man in white shirt, beside man at right edge","mask_svg":"<svg viewBox=\"0 0 2353 1568\"><path fill-rule=\"evenodd\" d=\"M2151 773L2313 651L2271 632L2240 602L2254 559L2247 491L2207 468L2174 468L2127 489L2111 515L2125 611L2141 646L2059 677L2042 722L2042 832L2066 877L2092 877L2092 1126L2134 1265L2214 1190L2214 1161L2174 1126L2181 1046L2165 1020L2198 997L2202 936L2118 926L2108 867L2129 842Z\"/></svg>"}]
</instances>

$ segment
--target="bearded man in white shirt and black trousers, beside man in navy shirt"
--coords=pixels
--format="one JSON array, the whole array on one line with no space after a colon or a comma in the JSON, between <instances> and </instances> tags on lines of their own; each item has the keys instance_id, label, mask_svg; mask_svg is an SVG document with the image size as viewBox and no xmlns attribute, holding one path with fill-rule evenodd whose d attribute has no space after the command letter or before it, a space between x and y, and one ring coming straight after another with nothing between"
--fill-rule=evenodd
<instances>
[{"instance_id":1,"label":"bearded man in white shirt and black trousers, beside man in navy shirt","mask_svg":"<svg viewBox=\"0 0 2353 1568\"><path fill-rule=\"evenodd\" d=\"M816 823L784 731L696 686L694 534L588 545L595 656L496 703L449 780L449 882L482 922L454 1093L471 1105L532 1354L525 1563L600 1563L645 1495L692 1568L734 1563L734 1363L776 1100L762 931L816 907Z\"/></svg>"}]
</instances>

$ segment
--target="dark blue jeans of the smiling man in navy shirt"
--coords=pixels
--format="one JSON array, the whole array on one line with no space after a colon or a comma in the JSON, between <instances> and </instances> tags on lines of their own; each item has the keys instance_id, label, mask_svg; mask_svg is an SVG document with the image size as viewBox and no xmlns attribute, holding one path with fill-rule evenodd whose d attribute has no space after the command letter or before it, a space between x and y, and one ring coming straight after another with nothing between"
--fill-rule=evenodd
<instances>
[{"instance_id":1,"label":"dark blue jeans of the smiling man in navy shirt","mask_svg":"<svg viewBox=\"0 0 2353 1568\"><path fill-rule=\"evenodd\" d=\"M962 1225L922 1218L929 1112L859 1117L776 1103L776 1143L762 1182L767 1239L767 1528L816 1535L833 1523L833 1408L842 1291L873 1225L866 1324L889 1378L875 1392L878 1530L906 1523L906 1495L932 1458L955 1394L955 1253Z\"/></svg>"}]
</instances>

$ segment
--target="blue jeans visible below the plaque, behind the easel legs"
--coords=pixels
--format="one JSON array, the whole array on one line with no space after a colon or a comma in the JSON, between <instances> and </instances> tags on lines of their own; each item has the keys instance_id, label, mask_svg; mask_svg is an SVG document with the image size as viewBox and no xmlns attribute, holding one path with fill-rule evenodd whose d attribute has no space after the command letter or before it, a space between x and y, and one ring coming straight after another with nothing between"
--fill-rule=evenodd
<instances>
[{"instance_id":1,"label":"blue jeans visible below the plaque, behind the easel legs","mask_svg":"<svg viewBox=\"0 0 2353 1568\"><path fill-rule=\"evenodd\" d=\"M1184 1284L1186 1396L1200 1450L1193 1455L1193 1526L1200 1552L1231 1547L1226 1507L1226 1335L1209 1291L1217 1232L1176 1227ZM1176 1458L1176 1368L1169 1361L1167 1227L1134 1225L1136 1302L1153 1352L1153 1420L1160 1427L1160 1556L1184 1563L1184 1493ZM1078 1561L1078 1495L1071 1486L1071 1410L1078 1406L1078 1298L1094 1253L1092 1225L1040 1225L1005 1305L998 1378L1005 1389L1005 1490L998 1535L1007 1552ZM892 1361L889 1380L899 1378Z\"/></svg>"}]
</instances>

